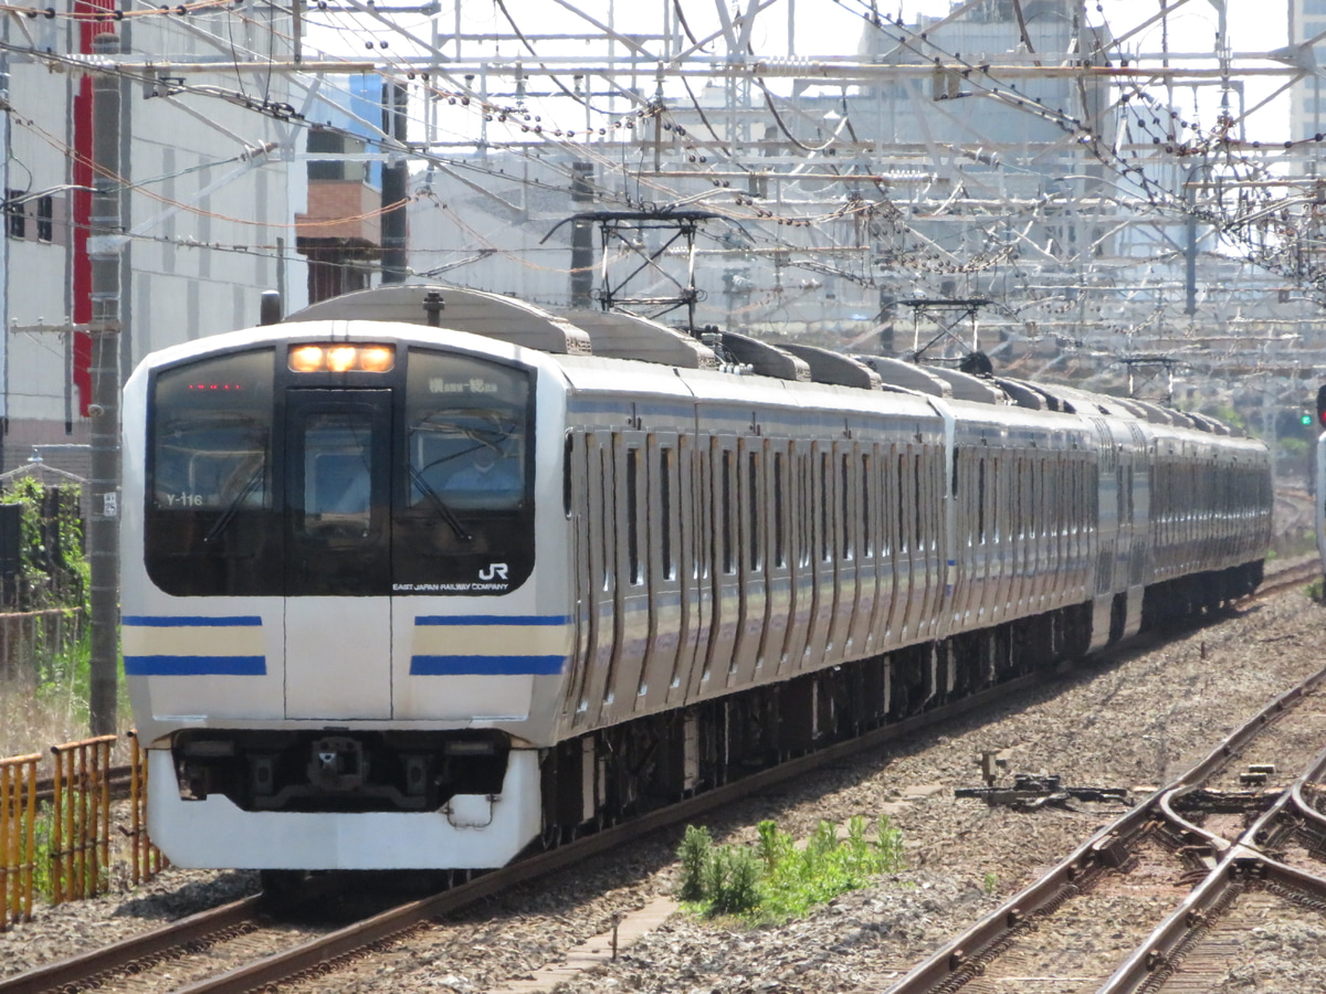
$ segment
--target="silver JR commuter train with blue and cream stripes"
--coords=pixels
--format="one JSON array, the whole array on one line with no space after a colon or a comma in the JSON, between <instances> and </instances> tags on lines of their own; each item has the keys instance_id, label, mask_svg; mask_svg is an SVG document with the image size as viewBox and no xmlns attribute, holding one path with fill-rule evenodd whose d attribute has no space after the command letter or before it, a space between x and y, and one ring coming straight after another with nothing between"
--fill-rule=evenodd
<instances>
[{"instance_id":1,"label":"silver JR commuter train with blue and cream stripes","mask_svg":"<svg viewBox=\"0 0 1326 994\"><path fill-rule=\"evenodd\" d=\"M1260 583L1260 441L969 370L423 284L147 357L152 840L500 867Z\"/></svg>"}]
</instances>

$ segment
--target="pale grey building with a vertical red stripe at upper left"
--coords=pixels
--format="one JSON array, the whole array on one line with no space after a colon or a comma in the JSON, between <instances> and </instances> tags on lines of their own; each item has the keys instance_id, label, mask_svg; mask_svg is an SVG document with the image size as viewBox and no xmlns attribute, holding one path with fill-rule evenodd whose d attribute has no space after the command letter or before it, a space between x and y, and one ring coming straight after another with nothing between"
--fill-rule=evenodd
<instances>
[{"instance_id":1,"label":"pale grey building with a vertical red stripe at upper left","mask_svg":"<svg viewBox=\"0 0 1326 994\"><path fill-rule=\"evenodd\" d=\"M306 300L294 213L306 178L293 168L304 129L290 119L296 83L236 65L292 53L289 9L255 4L160 8L117 20L109 0L73 0L46 17L4 20L11 113L5 143L5 235L0 315L0 468L40 452L86 476L91 319L90 156L99 126L80 57L110 34L127 66L119 85L123 183L119 376L162 346L255 323L261 289ZM41 54L24 54L30 48ZM141 72L160 53L215 62L183 76ZM94 243L95 244L95 243Z\"/></svg>"}]
</instances>

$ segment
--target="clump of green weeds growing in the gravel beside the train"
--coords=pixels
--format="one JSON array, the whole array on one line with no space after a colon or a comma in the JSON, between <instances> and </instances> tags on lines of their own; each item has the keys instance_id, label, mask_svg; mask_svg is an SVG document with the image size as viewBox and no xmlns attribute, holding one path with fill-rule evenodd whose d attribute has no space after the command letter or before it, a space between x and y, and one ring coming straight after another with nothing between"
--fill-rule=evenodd
<instances>
[{"instance_id":1,"label":"clump of green weeds growing in the gravel beside the train","mask_svg":"<svg viewBox=\"0 0 1326 994\"><path fill-rule=\"evenodd\" d=\"M678 896L688 911L751 924L800 918L903 865L902 834L884 816L874 840L866 839L865 818L847 823L845 839L821 822L800 847L774 822L761 822L758 831L753 847L713 846L707 828L687 827Z\"/></svg>"}]
</instances>

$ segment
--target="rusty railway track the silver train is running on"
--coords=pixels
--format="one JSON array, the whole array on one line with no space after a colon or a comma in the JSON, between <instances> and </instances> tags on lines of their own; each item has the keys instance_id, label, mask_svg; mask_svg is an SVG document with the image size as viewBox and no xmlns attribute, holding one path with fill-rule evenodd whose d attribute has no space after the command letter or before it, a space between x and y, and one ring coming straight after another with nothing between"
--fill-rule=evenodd
<instances>
[{"instance_id":1,"label":"rusty railway track the silver train is running on","mask_svg":"<svg viewBox=\"0 0 1326 994\"><path fill-rule=\"evenodd\" d=\"M1315 562L1299 563L1288 571L1281 570L1268 582L1262 594L1299 584L1317 573ZM1151 636L1142 640L1142 644L1146 641L1160 641L1160 639ZM1135 649L1138 645L1135 641L1128 648ZM597 854L621 848L647 832L696 820L708 811L777 787L780 783L796 782L821 766L843 761L853 753L878 747L899 737L915 736L937 721L988 708L1045 679L1044 675L1032 675L991 688L948 708L878 729L853 742L831 746L784 766L752 774L644 819L599 831L471 883L452 887L443 893L366 916L342 928L304 926L302 932L317 930L320 934L294 934L290 922L282 920L284 916L273 917L271 909L264 908L261 899L251 897L194 914L125 942L0 981L0 994L19 991L37 994L53 990L72 993L93 987L102 991L135 990L152 983L150 978L160 973L168 973L171 982L163 983L158 979L155 989L168 986L190 994L247 991L290 982L292 978L309 975L310 971L334 969L335 964L346 960L371 956L375 949L382 948L382 944L390 944L395 937L420 929L434 928L435 920L455 914L491 895L534 881ZM1326 838L1326 824L1319 831L1322 838ZM1310 842L1303 842L1303 846L1311 847ZM219 961L240 961L243 965L216 973Z\"/></svg>"}]
</instances>

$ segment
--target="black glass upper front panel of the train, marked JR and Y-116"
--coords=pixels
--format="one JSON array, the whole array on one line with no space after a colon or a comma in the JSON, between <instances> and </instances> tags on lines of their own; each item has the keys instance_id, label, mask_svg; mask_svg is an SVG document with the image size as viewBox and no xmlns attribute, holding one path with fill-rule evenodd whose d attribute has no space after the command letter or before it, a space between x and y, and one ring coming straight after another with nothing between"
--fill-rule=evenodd
<instances>
[{"instance_id":1,"label":"black glass upper front panel of the train, marked JR and Y-116","mask_svg":"<svg viewBox=\"0 0 1326 994\"><path fill-rule=\"evenodd\" d=\"M411 349L383 374L271 349L156 374L146 558L164 591L500 594L533 569L533 376Z\"/></svg>"}]
</instances>

